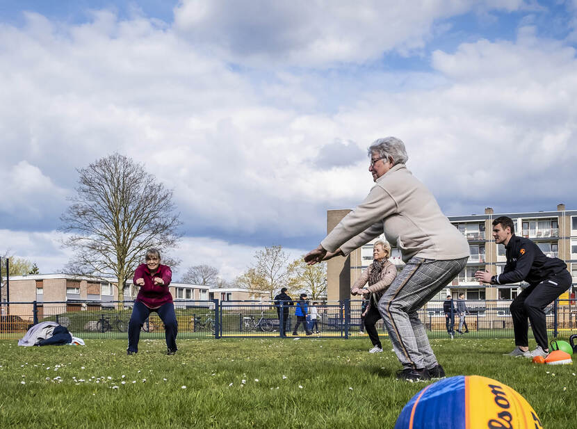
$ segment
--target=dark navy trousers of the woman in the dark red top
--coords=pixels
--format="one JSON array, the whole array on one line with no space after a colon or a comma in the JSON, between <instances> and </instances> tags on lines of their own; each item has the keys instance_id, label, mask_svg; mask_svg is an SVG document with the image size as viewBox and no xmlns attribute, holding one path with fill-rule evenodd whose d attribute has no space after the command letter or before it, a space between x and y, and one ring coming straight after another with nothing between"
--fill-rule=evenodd
<instances>
[{"instance_id":1,"label":"dark navy trousers of the woman in the dark red top","mask_svg":"<svg viewBox=\"0 0 577 429\"><path fill-rule=\"evenodd\" d=\"M164 323L164 334L168 350L177 351L178 323L172 302L167 302L157 309L149 309L140 301L134 301L134 307L132 307L132 314L128 323L128 351L138 352L140 329L152 311L156 311Z\"/></svg>"}]
</instances>

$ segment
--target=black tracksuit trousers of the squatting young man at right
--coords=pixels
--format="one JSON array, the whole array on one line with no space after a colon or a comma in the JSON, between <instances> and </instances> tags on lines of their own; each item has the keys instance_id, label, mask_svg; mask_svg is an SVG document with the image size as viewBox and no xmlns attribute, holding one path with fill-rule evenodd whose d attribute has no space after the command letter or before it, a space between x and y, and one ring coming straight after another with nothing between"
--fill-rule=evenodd
<instances>
[{"instance_id":1,"label":"black tracksuit trousers of the squatting young man at right","mask_svg":"<svg viewBox=\"0 0 577 429\"><path fill-rule=\"evenodd\" d=\"M563 270L562 273L549 277L541 283L531 284L519 293L509 307L513 318L516 346L527 347L529 345L527 338L528 319L531 321L531 329L537 345L541 346L543 350L549 347L544 309L569 289L571 280L569 271Z\"/></svg>"}]
</instances>

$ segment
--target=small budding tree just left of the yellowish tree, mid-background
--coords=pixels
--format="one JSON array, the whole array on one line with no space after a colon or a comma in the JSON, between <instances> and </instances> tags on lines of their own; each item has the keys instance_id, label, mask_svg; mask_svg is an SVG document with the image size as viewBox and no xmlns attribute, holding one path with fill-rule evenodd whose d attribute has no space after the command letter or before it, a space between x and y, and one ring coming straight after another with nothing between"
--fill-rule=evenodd
<instances>
[{"instance_id":1,"label":"small budding tree just left of the yellowish tree, mid-background","mask_svg":"<svg viewBox=\"0 0 577 429\"><path fill-rule=\"evenodd\" d=\"M245 273L236 279L236 283L250 291L266 291L273 300L275 292L286 285L286 265L289 255L282 250L282 245L273 245L254 253L256 262L247 268Z\"/></svg>"}]
</instances>

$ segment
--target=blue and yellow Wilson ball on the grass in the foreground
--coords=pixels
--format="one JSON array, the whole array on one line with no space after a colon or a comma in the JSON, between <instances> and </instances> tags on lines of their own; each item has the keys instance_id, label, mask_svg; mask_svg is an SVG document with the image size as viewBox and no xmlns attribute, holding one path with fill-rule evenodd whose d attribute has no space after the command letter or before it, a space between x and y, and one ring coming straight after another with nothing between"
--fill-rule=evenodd
<instances>
[{"instance_id":1,"label":"blue and yellow Wilson ball on the grass in the foreground","mask_svg":"<svg viewBox=\"0 0 577 429\"><path fill-rule=\"evenodd\" d=\"M537 413L507 385L479 375L432 383L400 412L395 429L539 429Z\"/></svg>"}]
</instances>

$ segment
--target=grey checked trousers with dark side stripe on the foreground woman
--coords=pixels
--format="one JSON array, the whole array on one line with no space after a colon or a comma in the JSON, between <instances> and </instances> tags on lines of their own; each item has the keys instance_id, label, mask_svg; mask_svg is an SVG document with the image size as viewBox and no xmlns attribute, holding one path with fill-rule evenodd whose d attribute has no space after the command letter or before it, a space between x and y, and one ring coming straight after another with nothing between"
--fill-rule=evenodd
<instances>
[{"instance_id":1,"label":"grey checked trousers with dark side stripe on the foreground woman","mask_svg":"<svg viewBox=\"0 0 577 429\"><path fill-rule=\"evenodd\" d=\"M417 311L463 270L467 259L437 261L414 257L380 299L379 311L393 350L405 368L431 369L437 365Z\"/></svg>"}]
</instances>

